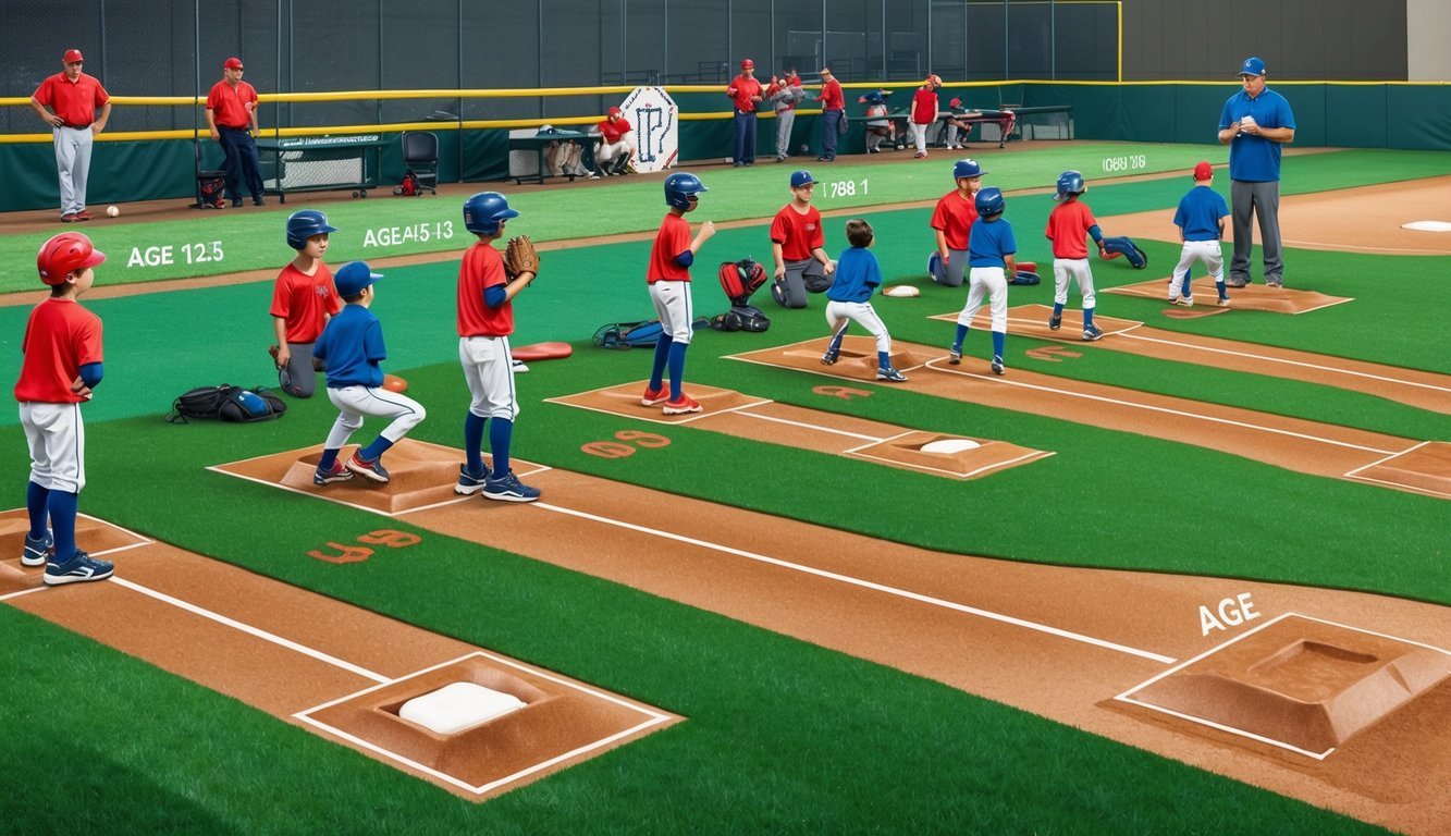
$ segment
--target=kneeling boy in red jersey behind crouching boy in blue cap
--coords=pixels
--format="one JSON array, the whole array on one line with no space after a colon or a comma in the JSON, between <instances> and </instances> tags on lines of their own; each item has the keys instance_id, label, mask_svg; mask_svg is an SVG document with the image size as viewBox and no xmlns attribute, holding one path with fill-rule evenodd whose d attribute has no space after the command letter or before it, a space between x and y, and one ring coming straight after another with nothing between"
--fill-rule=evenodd
<instances>
[{"instance_id":1,"label":"kneeling boy in red jersey behind crouching boy in blue cap","mask_svg":"<svg viewBox=\"0 0 1451 836\"><path fill-rule=\"evenodd\" d=\"M322 263L328 253L328 216L302 209L287 218L287 245L297 251L273 284L273 331L277 343L267 350L277 366L277 383L293 398L312 398L318 373L312 369L312 345L328 318L342 309L332 286L332 270Z\"/></svg>"}]
</instances>

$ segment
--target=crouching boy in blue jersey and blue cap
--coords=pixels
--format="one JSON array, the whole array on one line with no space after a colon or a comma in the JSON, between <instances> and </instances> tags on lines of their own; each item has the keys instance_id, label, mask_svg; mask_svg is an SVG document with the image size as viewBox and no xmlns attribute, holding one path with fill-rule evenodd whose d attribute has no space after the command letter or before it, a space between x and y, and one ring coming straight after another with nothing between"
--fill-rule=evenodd
<instances>
[{"instance_id":1,"label":"crouching boy in blue jersey and blue cap","mask_svg":"<svg viewBox=\"0 0 1451 836\"><path fill-rule=\"evenodd\" d=\"M338 296L347 305L328 319L322 337L312 347L312 357L319 372L326 367L328 399L338 408L338 419L332 422L318 472L312 476L315 485L344 482L354 473L379 485L386 483L383 453L425 415L418 401L383 389L383 369L379 363L387 358L387 347L383 345L383 325L369 311L374 298L373 283L382 277L364 261L344 264L332 277ZM342 464L338 462L338 451L363 427L364 415L392 418L393 422Z\"/></svg>"}]
</instances>

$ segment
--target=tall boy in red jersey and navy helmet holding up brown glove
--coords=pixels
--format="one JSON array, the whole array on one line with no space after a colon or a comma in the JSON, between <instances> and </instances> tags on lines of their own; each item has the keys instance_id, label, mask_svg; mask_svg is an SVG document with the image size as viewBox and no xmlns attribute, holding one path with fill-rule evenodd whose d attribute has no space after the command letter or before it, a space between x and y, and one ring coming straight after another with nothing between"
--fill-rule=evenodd
<instances>
[{"instance_id":1,"label":"tall boy in red jersey and navy helmet holding up brown glove","mask_svg":"<svg viewBox=\"0 0 1451 836\"><path fill-rule=\"evenodd\" d=\"M467 462L459 466L454 492L483 492L485 499L534 502L538 488L519 482L509 467L514 419L519 401L514 390L514 296L530 286L534 273L511 277L503 271L503 255L493 242L503 238L503 225L518 218L517 209L498 192L479 192L463 203L463 225L479 239L463 254L459 266L459 361L472 396L463 421L463 450ZM492 418L492 422L490 422ZM493 469L483 464L483 430L489 427L489 451Z\"/></svg>"}]
</instances>

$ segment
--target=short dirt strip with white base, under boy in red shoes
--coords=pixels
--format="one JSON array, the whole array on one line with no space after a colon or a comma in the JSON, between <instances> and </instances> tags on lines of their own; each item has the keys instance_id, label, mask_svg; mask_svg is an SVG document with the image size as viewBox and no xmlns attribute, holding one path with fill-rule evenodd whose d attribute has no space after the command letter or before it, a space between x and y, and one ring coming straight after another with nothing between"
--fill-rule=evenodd
<instances>
[{"instance_id":1,"label":"short dirt strip with white base, under boy in red shoes","mask_svg":"<svg viewBox=\"0 0 1451 836\"><path fill-rule=\"evenodd\" d=\"M644 392L647 383L647 380L638 380L564 398L550 398L548 401L633 421L669 425L689 424L695 430L820 450L950 479L978 479L988 473L1052 456L1052 453L1029 450L1007 441L908 430L820 409L776 403L715 386L691 386L691 396L705 406L704 412L665 415L659 406L650 408L640 403L640 393ZM844 399L869 395L866 390L849 386L818 386L814 393ZM604 446L595 443L588 447L596 447L591 451L598 456L611 456L609 443Z\"/></svg>"}]
</instances>

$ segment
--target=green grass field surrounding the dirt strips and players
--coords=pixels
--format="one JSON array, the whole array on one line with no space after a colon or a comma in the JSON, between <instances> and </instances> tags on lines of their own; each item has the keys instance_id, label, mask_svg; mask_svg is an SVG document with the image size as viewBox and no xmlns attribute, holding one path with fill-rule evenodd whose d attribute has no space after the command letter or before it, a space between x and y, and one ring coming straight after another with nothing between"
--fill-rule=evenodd
<instances>
[{"instance_id":1,"label":"green grass field surrounding the dirt strips and players","mask_svg":"<svg viewBox=\"0 0 1451 836\"><path fill-rule=\"evenodd\" d=\"M1174 203L1188 187L1187 176L1122 184L1093 176L1101 158L1130 152L1148 155L1146 171L1184 171L1200 158L1223 160L1217 147L1081 144L981 154L990 184L1042 187L1008 200L1007 218L1023 244L1020 257L1036 258L1045 274L1051 271L1051 255L1040 244L1052 205L1043 184L1068 167L1088 174L1088 202L1100 218L1162 209L1170 224ZM1284 192L1442 174L1447 160L1445 154L1371 151L1307 155L1287 161ZM927 316L959 309L962 292L921 279L932 247L930 208L881 205L939 196L950 187L949 165L948 160L839 165L830 170L834 180L869 180L869 192L818 197L823 209L859 208L874 224L888 283L923 286L917 299L876 303L897 340L945 345L950 325ZM702 174L711 189L702 216L760 222L726 229L707 245L695 269L699 314L726 308L712 277L715 263L747 254L769 260L765 228L785 200L779 183L785 174L785 167L765 165ZM1228 190L1228 177L1220 180ZM601 206L607 199L608 210ZM653 179L573 194L531 192L518 206L522 216L511 232L540 239L647 231L663 210ZM329 210L344 228L329 261L337 266L370 255L358 229L435 224L457 218L457 209L434 199L340 206ZM221 266L193 266L192 273L279 267L287 257L279 251L284 216L284 210L268 210L207 218L207 224L226 224L229 239L248 244L229 250ZM829 251L844 245L843 221L827 221ZM129 241L189 241L203 234L194 226L202 222L155 229L97 226L99 245L113 253L113 261L99 270L99 284L181 274L123 269L115 261ZM1113 234L1111 226L1106 232ZM44 237L0 237L0 255L13 266L0 287L35 286L29 264ZM456 235L444 248L463 245ZM657 456L589 456L583 444L647 427L544 399L649 373L646 351L589 345L598 325L649 315L641 282L649 247L649 241L631 241L546 253L541 277L515 300L514 343L567 340L575 357L533 364L519 377L515 456L952 553L1277 581L1451 605L1451 515L1444 499L1306 476L1201 446L1043 415L943 403L910 390L884 389L831 408L1056 454L971 482L688 428L673 430L669 450ZM1177 255L1168 244L1143 247L1151 266L1167 266ZM1299 316L1236 311L1180 321L1164 318L1158 302L1101 295L1100 311L1167 329L1451 374L1444 325L1426 315L1428 303L1444 298L1451 258L1290 250L1286 260L1290 284L1355 302ZM467 401L451 328L456 274L456 261L390 269L373 308L392 353L385 369L408 377L409 395L429 409L414 437L454 447ZM1122 261L1096 261L1094 276L1100 289L1149 277ZM1051 296L1049 280L1014 287L1010 298L1022 305L1051 303ZM686 721L476 806L0 607L6 636L0 657L9 672L0 685L6 736L0 768L16 778L0 794L0 816L16 833L1380 832L892 668L451 537L431 534L406 557L379 554L351 566L309 560L303 557L309 549L369 531L377 520L205 467L321 441L335 415L325 399L293 401L283 419L267 424L178 427L161 421L170 401L190 386L270 382L264 354L271 332L268 299L270 283L254 282L87 303L106 322L107 353L106 382L86 406L89 486L81 511L627 694ZM817 377L724 357L823 337L820 299L807 311L775 308L765 292L757 302L772 316L770 331L701 332L689 353L688 379L807 405ZM9 345L4 370L10 379L19 367L26 314L26 306L0 308L0 345ZM987 335L974 332L971 340L968 353L981 354ZM1416 440L1451 440L1451 415L1328 386L1114 351L1085 351L1072 364L1051 367L1027 356L1042 345L1010 334L1008 367ZM818 401L810 405L823 408ZM20 507L26 451L13 414L0 418L0 463L13 486L6 507ZM392 525L409 530L406 522Z\"/></svg>"}]
</instances>

